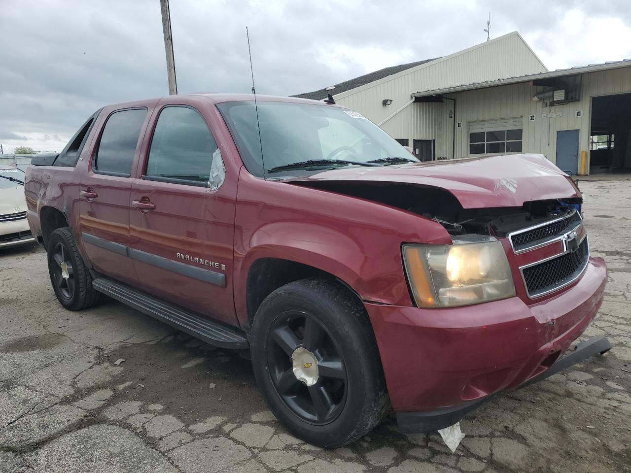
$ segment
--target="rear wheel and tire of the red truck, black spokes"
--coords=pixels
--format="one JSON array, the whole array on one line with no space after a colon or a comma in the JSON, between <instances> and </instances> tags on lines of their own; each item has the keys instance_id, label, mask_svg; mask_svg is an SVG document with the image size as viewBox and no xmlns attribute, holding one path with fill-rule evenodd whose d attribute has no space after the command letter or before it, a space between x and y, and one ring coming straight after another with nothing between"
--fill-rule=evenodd
<instances>
[{"instance_id":1,"label":"rear wheel and tire of the red truck, black spokes","mask_svg":"<svg viewBox=\"0 0 631 473\"><path fill-rule=\"evenodd\" d=\"M57 228L48 239L48 272L57 300L68 310L93 307L105 295L92 286L92 276L85 266L69 228Z\"/></svg>"}]
</instances>

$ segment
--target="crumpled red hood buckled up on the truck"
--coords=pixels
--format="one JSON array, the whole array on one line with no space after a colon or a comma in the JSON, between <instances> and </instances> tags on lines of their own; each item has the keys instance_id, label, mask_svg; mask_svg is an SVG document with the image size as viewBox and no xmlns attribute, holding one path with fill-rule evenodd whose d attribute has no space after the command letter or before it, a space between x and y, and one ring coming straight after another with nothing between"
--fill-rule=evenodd
<instances>
[{"instance_id":1,"label":"crumpled red hood buckled up on the truck","mask_svg":"<svg viewBox=\"0 0 631 473\"><path fill-rule=\"evenodd\" d=\"M465 209L521 207L524 202L581 197L570 178L543 155L503 155L354 167L324 171L285 182L399 182L439 187Z\"/></svg>"}]
</instances>

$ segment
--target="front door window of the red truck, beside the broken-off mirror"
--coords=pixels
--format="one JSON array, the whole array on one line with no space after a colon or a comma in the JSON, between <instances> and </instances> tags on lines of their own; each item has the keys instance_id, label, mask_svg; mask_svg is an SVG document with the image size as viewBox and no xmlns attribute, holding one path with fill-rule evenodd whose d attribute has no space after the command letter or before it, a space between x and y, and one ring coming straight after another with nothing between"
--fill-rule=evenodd
<instances>
[{"instance_id":1,"label":"front door window of the red truck, beside the broken-off mirror","mask_svg":"<svg viewBox=\"0 0 631 473\"><path fill-rule=\"evenodd\" d=\"M189 107L165 107L156 123L147 177L208 183L215 138L206 120Z\"/></svg>"}]
</instances>

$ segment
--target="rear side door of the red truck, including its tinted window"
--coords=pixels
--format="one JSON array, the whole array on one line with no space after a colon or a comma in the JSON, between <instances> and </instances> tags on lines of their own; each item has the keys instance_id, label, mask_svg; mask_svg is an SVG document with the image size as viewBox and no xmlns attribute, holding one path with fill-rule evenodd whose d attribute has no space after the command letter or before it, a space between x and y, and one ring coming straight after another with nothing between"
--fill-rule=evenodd
<instances>
[{"instance_id":1,"label":"rear side door of the red truck, including its tinted window","mask_svg":"<svg viewBox=\"0 0 631 473\"><path fill-rule=\"evenodd\" d=\"M80 186L80 238L95 269L136 283L129 245L131 173L147 108L115 110L105 121Z\"/></svg>"}]
</instances>

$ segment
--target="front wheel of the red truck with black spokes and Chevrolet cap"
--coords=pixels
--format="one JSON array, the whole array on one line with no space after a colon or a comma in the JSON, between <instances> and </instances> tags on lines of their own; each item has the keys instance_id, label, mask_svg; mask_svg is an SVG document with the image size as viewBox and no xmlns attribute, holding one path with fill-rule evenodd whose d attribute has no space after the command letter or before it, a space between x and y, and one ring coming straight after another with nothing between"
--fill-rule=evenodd
<instances>
[{"instance_id":1,"label":"front wheel of the red truck with black spokes and Chevrolet cap","mask_svg":"<svg viewBox=\"0 0 631 473\"><path fill-rule=\"evenodd\" d=\"M257 310L251 346L269 408L298 438L342 447L384 415L374 333L361 301L341 284L304 279L276 289Z\"/></svg>"}]
</instances>

